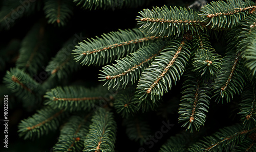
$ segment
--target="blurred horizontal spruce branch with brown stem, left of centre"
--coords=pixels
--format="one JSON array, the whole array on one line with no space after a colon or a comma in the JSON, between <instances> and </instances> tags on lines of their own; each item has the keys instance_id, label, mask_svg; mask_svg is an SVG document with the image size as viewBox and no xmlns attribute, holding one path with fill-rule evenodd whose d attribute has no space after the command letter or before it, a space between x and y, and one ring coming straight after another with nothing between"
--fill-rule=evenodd
<instances>
[{"instance_id":1,"label":"blurred horizontal spruce branch with brown stem, left of centre","mask_svg":"<svg viewBox=\"0 0 256 152\"><path fill-rule=\"evenodd\" d=\"M102 87L85 88L81 86L56 87L46 92L44 97L48 98L45 105L52 108L62 108L66 111L90 110L100 100L109 101L113 99L105 98L108 90Z\"/></svg>"}]
</instances>

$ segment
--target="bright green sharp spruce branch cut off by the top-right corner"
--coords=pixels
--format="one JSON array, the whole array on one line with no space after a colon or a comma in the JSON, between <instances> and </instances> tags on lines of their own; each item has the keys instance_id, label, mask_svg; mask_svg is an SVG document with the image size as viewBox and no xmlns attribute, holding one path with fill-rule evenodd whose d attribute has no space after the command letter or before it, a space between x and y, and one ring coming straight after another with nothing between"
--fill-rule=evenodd
<instances>
[{"instance_id":1,"label":"bright green sharp spruce branch cut off by the top-right corner","mask_svg":"<svg viewBox=\"0 0 256 152\"><path fill-rule=\"evenodd\" d=\"M206 26L215 28L233 28L245 18L248 13L255 11L254 2L246 0L227 0L211 2L201 9L201 16L204 17L202 22L206 22Z\"/></svg>"}]
</instances>

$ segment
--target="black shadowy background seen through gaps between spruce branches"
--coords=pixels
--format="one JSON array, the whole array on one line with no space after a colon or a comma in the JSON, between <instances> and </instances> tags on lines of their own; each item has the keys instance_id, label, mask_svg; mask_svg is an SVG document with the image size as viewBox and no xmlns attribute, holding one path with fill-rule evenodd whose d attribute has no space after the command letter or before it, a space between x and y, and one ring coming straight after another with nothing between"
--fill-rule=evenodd
<instances>
[{"instance_id":1,"label":"black shadowy background seen through gaps between spruce branches","mask_svg":"<svg viewBox=\"0 0 256 152\"><path fill-rule=\"evenodd\" d=\"M67 25L65 27L58 27L53 24L49 24L47 26L47 30L51 31L52 36L51 40L53 45L51 47L51 53L48 59L55 56L58 50L61 48L63 42L67 41L74 34L83 33L84 37L87 38L95 38L95 36L100 36L103 33L109 33L111 31L118 31L118 29L133 29L138 28L136 16L139 15L139 11L143 9L152 9L154 6L162 7L164 5L169 6L183 6L186 7L194 1L152 1L147 6L138 7L138 8L125 8L125 9L113 9L113 10L83 10L80 7L75 7L74 14L69 19ZM1 3L0 3L1 5ZM42 9L38 12L33 13L30 16L24 16L20 20L17 20L14 27L12 27L8 31L1 31L1 41L0 41L0 50L8 46L8 44L13 40L22 41L22 39L26 36L28 31L34 25L35 22L40 21L41 23L46 23L47 19L45 19L45 13ZM215 47L216 51L223 55L225 51L225 41L223 39L216 40L211 39L212 45ZM17 55L13 55L13 60L8 61L4 69L0 71L0 77L3 78L6 70L9 70L10 67L15 66L15 59L18 57ZM81 70L74 72L71 78L67 81L68 83L76 83L83 82L90 85L98 84L98 74L101 67L83 67ZM43 69L42 69L43 71ZM40 72L40 71L39 71ZM38 72L38 73L39 73ZM174 111L167 114L166 118L163 118L161 115L157 115L156 112L151 112L148 114L147 119L150 119L151 127L152 127L152 135L155 132L160 131L162 121L167 120L170 123L173 123L174 126L172 129L168 131L168 133L163 134L163 138L154 144L153 148L148 148L148 145L143 145L146 151L158 151L161 145L170 137L173 136L180 131L183 130L181 128L181 124L178 123L177 114L179 99L181 97L181 84L182 79L177 83L176 86L166 93L163 96L163 102L166 104L167 102L174 103ZM4 98L4 97L1 97ZM10 96L10 100L16 100L16 97ZM239 99L237 99L239 100ZM2 102L2 100L1 100ZM17 125L20 120L28 118L33 115L35 111L28 112L24 110L19 103L14 103L12 105L12 109L9 109L9 125L8 125L8 150L2 149L1 146L0 151L51 151L54 144L57 142L57 137L59 136L59 132L51 133L47 136L42 136L40 139L36 139L34 141L31 140L23 140L23 138L19 138L17 134ZM3 109L3 108L1 108ZM2 110L1 110L2 111ZM207 114L207 119L205 122L205 126L202 126L200 132L204 133L204 135L210 135L211 133L217 131L219 128L223 126L228 126L234 122L237 122L239 118L236 114L238 112L238 104L236 101L232 103L223 103L217 104L214 101L210 104L210 110ZM2 115L2 114L1 114ZM0 117L2 118L2 116ZM122 117L115 113L115 119L118 123L117 130L117 141L116 141L116 151L138 151L141 147L137 142L131 141L127 138L125 134L125 128L122 125ZM1 122L1 127L3 127ZM188 132L189 133L189 132ZM1 130L1 134L3 134L3 129ZM1 138L4 136L1 136ZM3 140L1 140L3 141ZM0 145L3 145L1 142Z\"/></svg>"}]
</instances>

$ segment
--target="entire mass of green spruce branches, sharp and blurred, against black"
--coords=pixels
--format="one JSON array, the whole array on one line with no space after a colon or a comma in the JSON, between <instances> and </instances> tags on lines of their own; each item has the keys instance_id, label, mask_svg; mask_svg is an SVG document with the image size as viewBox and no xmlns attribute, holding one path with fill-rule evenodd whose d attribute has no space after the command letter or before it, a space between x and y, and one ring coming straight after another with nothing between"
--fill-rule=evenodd
<instances>
[{"instance_id":1,"label":"entire mass of green spruce branches, sharp and blurred, against black","mask_svg":"<svg viewBox=\"0 0 256 152\"><path fill-rule=\"evenodd\" d=\"M5 19L11 15L8 9L19 7L16 1L10 2L3 2L5 7L1 8L0 16ZM73 2L89 10L147 3L144 0ZM36 1L24 14L44 5L48 23L66 26L74 3ZM49 78L42 83L32 78L43 65L42 56L48 55L48 46L42 47L48 41L45 37L48 33L45 27L35 24L22 41L16 67L4 77L6 87L22 99L25 108L42 107L19 123L19 136L39 138L58 130L62 124L55 151L115 151L116 137L120 138L121 131L116 120L123 118L127 137L143 145L147 137L152 137L151 125L144 118L155 114L148 113L151 111L163 113L159 105L167 111L178 106L172 100L163 102L162 96L181 80L178 121L191 133L184 131L170 137L160 151L256 151L255 8L255 2L250 0L227 0L206 4L200 11L167 6L144 9L137 16L139 29L110 32L72 44L72 54L71 50L65 50L72 41L68 40L49 62L46 68ZM1 29L9 29L15 23L8 22L10 25L4 27L5 19L0 20ZM219 50L209 39L217 42L223 39L225 50ZM63 59L63 55L67 58ZM102 86L67 85L70 73L79 69L75 62L103 66L99 81L104 81L109 90ZM240 122L200 138L209 131L211 121L217 122L207 118L208 111L216 108L211 106L214 101L239 105ZM197 136L195 130L199 131Z\"/></svg>"}]
</instances>

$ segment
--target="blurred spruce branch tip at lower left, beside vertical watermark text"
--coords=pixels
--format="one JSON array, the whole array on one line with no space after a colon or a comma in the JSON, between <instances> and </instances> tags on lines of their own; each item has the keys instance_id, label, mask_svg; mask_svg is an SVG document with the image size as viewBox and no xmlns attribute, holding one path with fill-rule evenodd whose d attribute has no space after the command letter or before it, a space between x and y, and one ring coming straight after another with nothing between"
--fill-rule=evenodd
<instances>
[{"instance_id":1,"label":"blurred spruce branch tip at lower left, beside vertical watermark text","mask_svg":"<svg viewBox=\"0 0 256 152\"><path fill-rule=\"evenodd\" d=\"M24 139L34 139L48 134L49 131L55 131L61 118L66 115L64 110L52 109L51 107L38 110L32 117L19 123L19 136L25 136Z\"/></svg>"}]
</instances>

